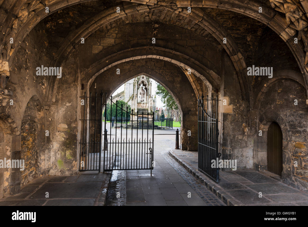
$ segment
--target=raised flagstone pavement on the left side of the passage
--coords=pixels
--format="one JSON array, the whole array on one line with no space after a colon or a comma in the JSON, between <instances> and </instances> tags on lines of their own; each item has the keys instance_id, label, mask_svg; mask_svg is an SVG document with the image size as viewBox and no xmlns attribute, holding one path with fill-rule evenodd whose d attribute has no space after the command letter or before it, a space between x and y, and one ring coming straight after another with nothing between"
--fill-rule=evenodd
<instances>
[{"instance_id":1,"label":"raised flagstone pavement on the left side of the passage","mask_svg":"<svg viewBox=\"0 0 308 227\"><path fill-rule=\"evenodd\" d=\"M96 172L96 173L95 173ZM104 205L111 173L82 172L73 176L48 176L33 180L21 193L0 199L1 206ZM49 197L46 198L46 192Z\"/></svg>"}]
</instances>

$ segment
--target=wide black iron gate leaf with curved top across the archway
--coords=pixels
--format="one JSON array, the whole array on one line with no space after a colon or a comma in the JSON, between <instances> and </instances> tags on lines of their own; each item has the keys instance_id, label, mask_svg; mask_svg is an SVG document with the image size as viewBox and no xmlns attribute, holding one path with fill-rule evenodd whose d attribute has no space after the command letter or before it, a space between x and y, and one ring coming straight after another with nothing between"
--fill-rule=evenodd
<instances>
[{"instance_id":1,"label":"wide black iron gate leaf with curved top across the archway","mask_svg":"<svg viewBox=\"0 0 308 227\"><path fill-rule=\"evenodd\" d=\"M107 94L106 94L107 95ZM151 170L154 167L154 112L135 113L105 97L103 170Z\"/></svg>"}]
</instances>

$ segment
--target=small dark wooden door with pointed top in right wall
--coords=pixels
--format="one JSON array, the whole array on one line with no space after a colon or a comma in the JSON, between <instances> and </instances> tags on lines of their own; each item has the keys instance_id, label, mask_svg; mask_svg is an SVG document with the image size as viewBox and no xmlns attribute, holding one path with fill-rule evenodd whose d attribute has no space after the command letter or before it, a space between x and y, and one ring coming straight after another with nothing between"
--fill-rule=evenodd
<instances>
[{"instance_id":1,"label":"small dark wooden door with pointed top in right wall","mask_svg":"<svg viewBox=\"0 0 308 227\"><path fill-rule=\"evenodd\" d=\"M282 172L282 131L273 122L267 131L267 170L281 176Z\"/></svg>"}]
</instances>

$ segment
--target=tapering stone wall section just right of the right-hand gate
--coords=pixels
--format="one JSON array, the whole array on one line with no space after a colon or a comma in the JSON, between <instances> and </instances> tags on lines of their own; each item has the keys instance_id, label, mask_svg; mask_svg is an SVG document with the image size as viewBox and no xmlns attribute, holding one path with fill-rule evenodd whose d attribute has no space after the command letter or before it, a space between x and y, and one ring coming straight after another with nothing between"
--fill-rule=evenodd
<instances>
[{"instance_id":1,"label":"tapering stone wall section just right of the right-hand gate","mask_svg":"<svg viewBox=\"0 0 308 227\"><path fill-rule=\"evenodd\" d=\"M229 58L225 58L223 131L221 159L237 159L237 168L252 168L252 148L247 140L246 109L241 98L238 76ZM225 104L223 105L223 101Z\"/></svg>"}]
</instances>

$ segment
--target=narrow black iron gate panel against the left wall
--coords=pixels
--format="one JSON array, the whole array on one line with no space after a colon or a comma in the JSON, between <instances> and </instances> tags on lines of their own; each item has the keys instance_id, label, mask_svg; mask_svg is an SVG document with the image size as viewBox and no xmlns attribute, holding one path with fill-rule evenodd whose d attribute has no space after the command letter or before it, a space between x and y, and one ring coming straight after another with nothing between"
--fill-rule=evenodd
<instances>
[{"instance_id":1,"label":"narrow black iron gate panel against the left wall","mask_svg":"<svg viewBox=\"0 0 308 227\"><path fill-rule=\"evenodd\" d=\"M103 92L100 96L79 97L81 104L81 133L79 141L79 170L100 171L102 144L102 104Z\"/></svg>"}]
</instances>

